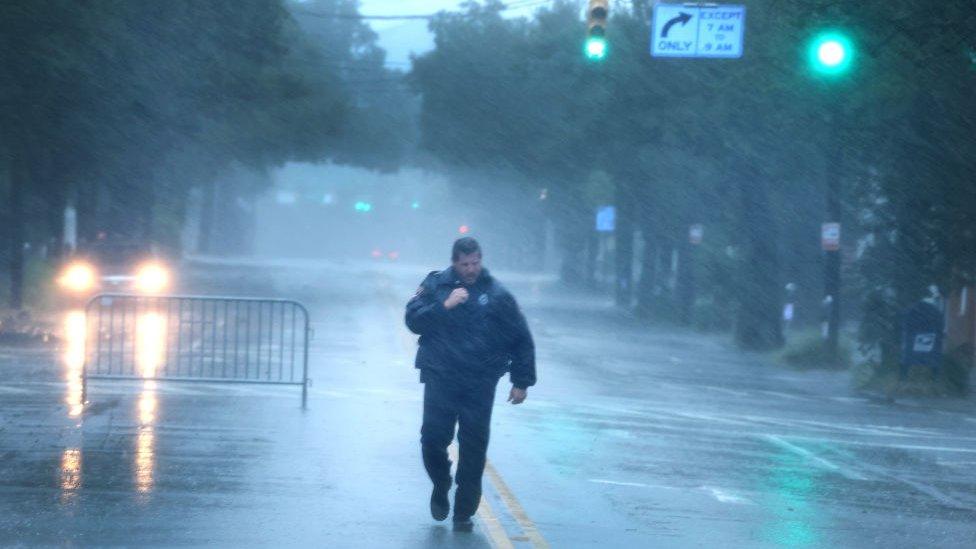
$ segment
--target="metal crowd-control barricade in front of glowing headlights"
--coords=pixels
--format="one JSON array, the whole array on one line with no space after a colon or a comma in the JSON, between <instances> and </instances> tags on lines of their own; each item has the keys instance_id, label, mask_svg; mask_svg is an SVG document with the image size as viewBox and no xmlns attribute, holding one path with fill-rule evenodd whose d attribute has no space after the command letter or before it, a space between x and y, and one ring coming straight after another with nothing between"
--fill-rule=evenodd
<instances>
[{"instance_id":1,"label":"metal crowd-control barricade in front of glowing headlights","mask_svg":"<svg viewBox=\"0 0 976 549\"><path fill-rule=\"evenodd\" d=\"M301 385L308 310L282 299L101 294L85 307L90 379Z\"/></svg>"}]
</instances>

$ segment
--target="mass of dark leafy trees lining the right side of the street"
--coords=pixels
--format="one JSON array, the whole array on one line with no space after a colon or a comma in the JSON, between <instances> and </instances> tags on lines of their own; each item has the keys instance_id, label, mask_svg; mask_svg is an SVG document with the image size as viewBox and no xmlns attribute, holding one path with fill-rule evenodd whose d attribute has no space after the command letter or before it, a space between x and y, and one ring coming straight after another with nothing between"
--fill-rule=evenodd
<instances>
[{"instance_id":1,"label":"mass of dark leafy trees lining the right side of the street","mask_svg":"<svg viewBox=\"0 0 976 549\"><path fill-rule=\"evenodd\" d=\"M754 3L739 60L651 58L648 5L634 6L615 4L612 54L600 63L580 55L584 26L570 2L531 20L504 19L494 1L441 15L431 24L436 49L411 74L423 146L448 165L553 182L567 235L586 234L590 172L608 174L621 221L651 243L645 266L686 252L688 225L703 223L706 243L736 259L703 254L701 303L735 310L749 347L781 340L787 281L798 285L804 321L817 316L808 311L822 297L829 179L842 182L845 256L859 247L842 304L864 307L865 352L890 353L898 311L929 284L973 280L971 5ZM830 78L813 74L807 57L827 29L844 35L854 61ZM579 239L566 239L571 261ZM669 294L660 273L644 272L642 311L670 315L680 281Z\"/></svg>"}]
</instances>

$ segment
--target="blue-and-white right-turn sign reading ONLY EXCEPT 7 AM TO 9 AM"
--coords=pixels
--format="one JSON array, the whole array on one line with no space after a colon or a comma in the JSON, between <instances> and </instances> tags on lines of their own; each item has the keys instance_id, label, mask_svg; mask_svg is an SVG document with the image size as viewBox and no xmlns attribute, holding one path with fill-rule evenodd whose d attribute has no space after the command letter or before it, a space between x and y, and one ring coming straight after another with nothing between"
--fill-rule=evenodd
<instances>
[{"instance_id":1,"label":"blue-and-white right-turn sign reading ONLY EXCEPT 7 AM TO 9 AM","mask_svg":"<svg viewBox=\"0 0 976 549\"><path fill-rule=\"evenodd\" d=\"M742 57L745 6L657 4L652 23L654 57Z\"/></svg>"}]
</instances>

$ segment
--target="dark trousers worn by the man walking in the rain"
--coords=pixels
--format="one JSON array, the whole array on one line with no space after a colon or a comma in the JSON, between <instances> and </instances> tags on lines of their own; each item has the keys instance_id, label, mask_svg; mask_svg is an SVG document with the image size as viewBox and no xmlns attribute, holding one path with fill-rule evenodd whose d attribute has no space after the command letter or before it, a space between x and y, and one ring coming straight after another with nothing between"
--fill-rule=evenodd
<instances>
[{"instance_id":1,"label":"dark trousers worn by the man walking in the rain","mask_svg":"<svg viewBox=\"0 0 976 549\"><path fill-rule=\"evenodd\" d=\"M497 378L455 379L424 376L424 424L420 446L424 467L434 486L447 489L451 483L451 461L447 447L458 426L457 492L454 516L470 517L481 502L481 476L491 430L491 408Z\"/></svg>"}]
</instances>

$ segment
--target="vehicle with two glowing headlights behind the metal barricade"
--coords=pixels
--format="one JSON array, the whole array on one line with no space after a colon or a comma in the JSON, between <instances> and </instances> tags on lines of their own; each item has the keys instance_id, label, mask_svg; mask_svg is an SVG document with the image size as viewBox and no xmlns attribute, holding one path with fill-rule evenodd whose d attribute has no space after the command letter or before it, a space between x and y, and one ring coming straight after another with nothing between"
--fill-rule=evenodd
<instances>
[{"instance_id":1,"label":"vehicle with two glowing headlights behind the metal barricade","mask_svg":"<svg viewBox=\"0 0 976 549\"><path fill-rule=\"evenodd\" d=\"M99 239L78 249L57 283L64 297L76 300L101 292L155 295L170 289L172 272L169 261L152 244Z\"/></svg>"}]
</instances>

